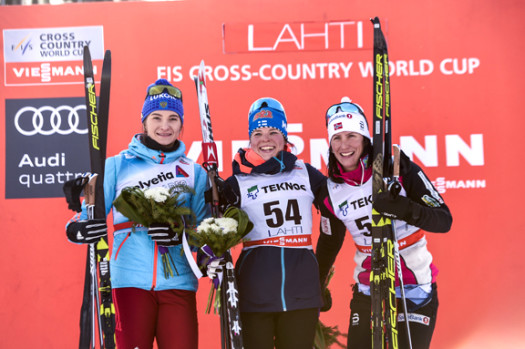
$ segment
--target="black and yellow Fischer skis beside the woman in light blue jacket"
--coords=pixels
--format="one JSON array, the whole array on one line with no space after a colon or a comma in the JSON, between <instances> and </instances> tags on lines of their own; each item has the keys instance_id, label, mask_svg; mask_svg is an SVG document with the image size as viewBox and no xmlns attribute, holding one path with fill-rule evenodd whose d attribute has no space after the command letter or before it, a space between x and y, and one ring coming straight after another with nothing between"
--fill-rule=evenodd
<instances>
[{"instance_id":1,"label":"black and yellow Fischer skis beside the woman in light blue jacket","mask_svg":"<svg viewBox=\"0 0 525 349\"><path fill-rule=\"evenodd\" d=\"M111 52L106 51L102 66L100 97L97 103L93 63L89 47L84 47L84 88L86 115L89 130L89 157L91 173L66 183L64 192L69 207L80 211L79 195L84 190L88 219L105 219L104 167L109 115L111 83ZM69 189L67 189L69 188ZM78 203L77 203L78 202ZM111 291L109 270L109 245L107 236L89 244L86 260L84 294L80 309L79 348L115 348L115 307ZM97 268L98 267L98 268ZM98 320L98 321L97 321Z\"/></svg>"}]
</instances>

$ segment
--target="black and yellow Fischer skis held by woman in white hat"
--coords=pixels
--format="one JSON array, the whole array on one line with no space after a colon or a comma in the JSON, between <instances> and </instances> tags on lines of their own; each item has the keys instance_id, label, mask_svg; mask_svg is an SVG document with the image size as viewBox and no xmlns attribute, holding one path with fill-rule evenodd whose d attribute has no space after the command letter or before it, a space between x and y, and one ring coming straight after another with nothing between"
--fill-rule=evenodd
<instances>
[{"instance_id":1,"label":"black and yellow Fischer skis held by woman in white hat","mask_svg":"<svg viewBox=\"0 0 525 349\"><path fill-rule=\"evenodd\" d=\"M399 147L394 146L392 163L392 124L388 49L379 18L374 25L373 76L373 147L372 201L379 193L391 190L394 195L401 188L399 178ZM388 188L385 179L390 182ZM390 218L379 213L372 205L372 348L398 348L396 268L401 286L409 347L412 348L403 274L395 225Z\"/></svg>"}]
</instances>

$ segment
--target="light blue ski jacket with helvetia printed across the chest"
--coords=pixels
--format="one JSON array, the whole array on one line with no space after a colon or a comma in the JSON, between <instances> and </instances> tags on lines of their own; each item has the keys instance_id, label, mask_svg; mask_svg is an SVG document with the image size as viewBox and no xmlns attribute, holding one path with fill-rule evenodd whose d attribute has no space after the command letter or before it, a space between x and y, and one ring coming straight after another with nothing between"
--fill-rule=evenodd
<instances>
[{"instance_id":1,"label":"light blue ski jacket with helvetia printed across the chest","mask_svg":"<svg viewBox=\"0 0 525 349\"><path fill-rule=\"evenodd\" d=\"M142 189L170 187L187 184L195 193L180 196L183 205L190 207L196 217L196 225L210 216L209 205L204 200L208 187L204 169L187 158L186 146L179 141L172 152L162 152L146 147L135 135L127 149L106 160L104 173L104 199L106 215L113 213L113 248L110 260L113 288L136 287L145 290L179 289L196 291L198 280L186 259L182 245L168 247L174 262L173 276L164 276L162 257L158 246L147 234L147 228L136 227L132 231L129 219L118 212L113 201L122 189L138 186ZM81 219L86 219L84 205ZM193 258L192 256L188 256ZM170 261L171 262L171 261Z\"/></svg>"}]
</instances>

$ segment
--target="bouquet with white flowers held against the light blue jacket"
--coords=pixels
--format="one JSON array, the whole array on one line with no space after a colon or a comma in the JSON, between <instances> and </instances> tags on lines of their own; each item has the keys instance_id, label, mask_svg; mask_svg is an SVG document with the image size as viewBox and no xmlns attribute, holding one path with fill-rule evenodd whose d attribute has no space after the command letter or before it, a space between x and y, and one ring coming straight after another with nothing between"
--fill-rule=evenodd
<instances>
[{"instance_id":1,"label":"bouquet with white flowers held against the light blue jacket","mask_svg":"<svg viewBox=\"0 0 525 349\"><path fill-rule=\"evenodd\" d=\"M184 229L184 216L192 222L194 213L183 204L180 196L183 193L194 193L193 189L185 184L172 186L169 189L155 187L140 189L127 187L113 201L115 208L133 222L133 226L143 225L150 227L153 223L167 223L177 234Z\"/></svg>"}]
</instances>

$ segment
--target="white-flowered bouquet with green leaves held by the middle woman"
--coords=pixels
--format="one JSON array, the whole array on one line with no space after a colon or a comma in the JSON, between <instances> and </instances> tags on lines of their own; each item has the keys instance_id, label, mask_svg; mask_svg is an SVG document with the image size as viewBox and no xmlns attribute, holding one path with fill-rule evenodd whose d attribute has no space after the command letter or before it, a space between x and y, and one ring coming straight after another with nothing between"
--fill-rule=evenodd
<instances>
[{"instance_id":1,"label":"white-flowered bouquet with green leaves held by the middle woman","mask_svg":"<svg viewBox=\"0 0 525 349\"><path fill-rule=\"evenodd\" d=\"M208 245L215 256L221 257L252 229L253 223L246 212L232 206L221 218L204 219L190 235L194 237L198 246Z\"/></svg>"}]
</instances>

